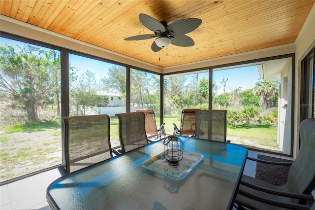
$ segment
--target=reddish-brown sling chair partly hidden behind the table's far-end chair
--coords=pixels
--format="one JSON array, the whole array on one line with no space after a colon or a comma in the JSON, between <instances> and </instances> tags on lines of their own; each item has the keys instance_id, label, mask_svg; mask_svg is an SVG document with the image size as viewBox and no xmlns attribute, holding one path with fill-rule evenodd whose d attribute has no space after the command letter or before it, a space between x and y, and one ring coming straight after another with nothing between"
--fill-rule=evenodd
<instances>
[{"instance_id":1,"label":"reddish-brown sling chair partly hidden behind the table's far-end chair","mask_svg":"<svg viewBox=\"0 0 315 210\"><path fill-rule=\"evenodd\" d=\"M182 111L181 116L181 129L178 129L175 123L173 135L180 136L194 136L195 135L195 112L200 108L186 108Z\"/></svg>"}]
</instances>

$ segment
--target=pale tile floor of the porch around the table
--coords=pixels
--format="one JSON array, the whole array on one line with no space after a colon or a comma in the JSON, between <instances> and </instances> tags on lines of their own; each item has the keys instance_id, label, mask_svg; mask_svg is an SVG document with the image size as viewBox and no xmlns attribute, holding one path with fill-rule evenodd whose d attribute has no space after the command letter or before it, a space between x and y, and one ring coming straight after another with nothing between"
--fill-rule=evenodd
<instances>
[{"instance_id":1,"label":"pale tile floor of the porch around the table","mask_svg":"<svg viewBox=\"0 0 315 210\"><path fill-rule=\"evenodd\" d=\"M249 151L250 157L257 157L257 154L292 160L292 158L280 155ZM255 176L255 169L255 162L248 160L245 165L244 174ZM0 209L51 210L46 201L46 189L51 182L60 176L58 169L53 169L0 186Z\"/></svg>"}]
</instances>

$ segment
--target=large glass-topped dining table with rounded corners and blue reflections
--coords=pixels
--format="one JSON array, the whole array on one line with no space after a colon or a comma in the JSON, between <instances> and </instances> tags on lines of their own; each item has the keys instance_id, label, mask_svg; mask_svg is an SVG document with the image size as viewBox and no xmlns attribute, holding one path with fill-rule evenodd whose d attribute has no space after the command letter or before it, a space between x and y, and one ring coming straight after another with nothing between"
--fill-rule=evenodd
<instances>
[{"instance_id":1,"label":"large glass-topped dining table with rounded corners and blue reflections","mask_svg":"<svg viewBox=\"0 0 315 210\"><path fill-rule=\"evenodd\" d=\"M164 159L162 140L64 175L47 188L52 209L232 209L248 150L178 136L183 159Z\"/></svg>"}]
</instances>

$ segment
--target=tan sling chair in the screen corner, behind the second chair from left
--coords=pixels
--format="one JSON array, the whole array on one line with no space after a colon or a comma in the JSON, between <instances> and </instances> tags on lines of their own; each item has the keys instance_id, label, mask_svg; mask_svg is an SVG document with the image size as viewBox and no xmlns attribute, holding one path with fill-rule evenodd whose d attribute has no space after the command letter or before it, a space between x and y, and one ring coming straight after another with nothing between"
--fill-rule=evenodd
<instances>
[{"instance_id":1,"label":"tan sling chair in the screen corner, behind the second chair from left","mask_svg":"<svg viewBox=\"0 0 315 210\"><path fill-rule=\"evenodd\" d=\"M156 123L156 115L153 110L151 109L138 109L136 112L143 112L145 117L146 117L146 134L148 139L150 138L155 138L155 139L161 139L162 136L163 138L166 137L164 125L165 123L162 123L162 125L157 128L157 123Z\"/></svg>"}]
</instances>

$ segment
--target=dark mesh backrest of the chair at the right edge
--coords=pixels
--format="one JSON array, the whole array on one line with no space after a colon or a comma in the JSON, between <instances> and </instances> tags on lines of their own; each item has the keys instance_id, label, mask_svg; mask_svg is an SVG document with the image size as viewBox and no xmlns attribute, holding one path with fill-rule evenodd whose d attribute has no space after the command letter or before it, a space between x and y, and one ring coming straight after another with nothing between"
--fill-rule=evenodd
<instances>
[{"instance_id":1,"label":"dark mesh backrest of the chair at the right edge","mask_svg":"<svg viewBox=\"0 0 315 210\"><path fill-rule=\"evenodd\" d=\"M310 194L315 188L315 118L300 124L300 151L292 163L288 177L288 190Z\"/></svg>"}]
</instances>

